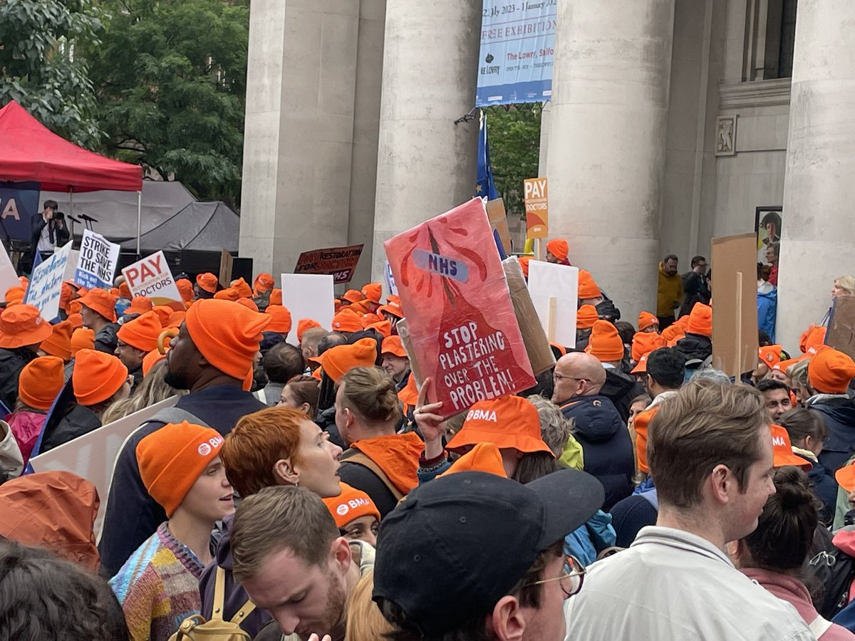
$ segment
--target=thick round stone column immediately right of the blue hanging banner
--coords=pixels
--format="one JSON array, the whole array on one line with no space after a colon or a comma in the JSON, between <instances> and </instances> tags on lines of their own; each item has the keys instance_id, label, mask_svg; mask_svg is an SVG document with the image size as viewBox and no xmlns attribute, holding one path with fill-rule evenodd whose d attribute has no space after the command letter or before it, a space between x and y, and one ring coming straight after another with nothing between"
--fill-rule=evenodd
<instances>
[{"instance_id":1,"label":"thick round stone column immediately right of the blue hanging banner","mask_svg":"<svg viewBox=\"0 0 855 641\"><path fill-rule=\"evenodd\" d=\"M550 238L633 323L656 311L673 30L674 0L558 3Z\"/></svg>"}]
</instances>

